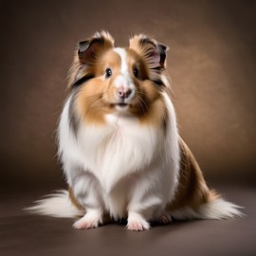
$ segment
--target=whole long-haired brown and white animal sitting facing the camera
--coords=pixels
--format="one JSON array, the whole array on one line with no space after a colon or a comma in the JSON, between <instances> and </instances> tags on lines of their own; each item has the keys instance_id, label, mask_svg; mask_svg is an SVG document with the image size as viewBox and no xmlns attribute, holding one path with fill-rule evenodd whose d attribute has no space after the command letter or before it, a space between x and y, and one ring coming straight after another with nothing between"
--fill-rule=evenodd
<instances>
[{"instance_id":1,"label":"whole long-haired brown and white animal sitting facing the camera","mask_svg":"<svg viewBox=\"0 0 256 256\"><path fill-rule=\"evenodd\" d=\"M239 207L206 185L179 137L166 77L167 47L139 34L115 47L108 32L79 43L68 75L58 128L58 155L68 191L29 210L78 217L76 229L127 220L127 229L152 221L241 216Z\"/></svg>"}]
</instances>

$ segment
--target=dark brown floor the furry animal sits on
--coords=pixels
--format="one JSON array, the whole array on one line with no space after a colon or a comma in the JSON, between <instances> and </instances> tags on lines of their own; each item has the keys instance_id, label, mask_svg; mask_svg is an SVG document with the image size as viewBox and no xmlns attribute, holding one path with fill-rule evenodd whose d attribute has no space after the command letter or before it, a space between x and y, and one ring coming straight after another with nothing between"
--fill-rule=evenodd
<instances>
[{"instance_id":1,"label":"dark brown floor the furry animal sits on","mask_svg":"<svg viewBox=\"0 0 256 256\"><path fill-rule=\"evenodd\" d=\"M174 222L134 232L109 224L76 230L71 219L30 215L23 210L47 191L5 192L0 204L0 255L256 255L256 190L221 188L245 207L245 218Z\"/></svg>"}]
</instances>

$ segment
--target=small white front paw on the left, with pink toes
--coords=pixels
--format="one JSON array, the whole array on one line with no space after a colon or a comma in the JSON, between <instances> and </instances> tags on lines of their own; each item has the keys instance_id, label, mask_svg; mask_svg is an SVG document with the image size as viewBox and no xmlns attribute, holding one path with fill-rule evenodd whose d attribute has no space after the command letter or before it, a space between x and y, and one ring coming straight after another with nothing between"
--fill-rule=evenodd
<instances>
[{"instance_id":1,"label":"small white front paw on the left, with pink toes","mask_svg":"<svg viewBox=\"0 0 256 256\"><path fill-rule=\"evenodd\" d=\"M97 210L88 211L73 224L75 229L96 229L102 223L101 213Z\"/></svg>"}]
</instances>

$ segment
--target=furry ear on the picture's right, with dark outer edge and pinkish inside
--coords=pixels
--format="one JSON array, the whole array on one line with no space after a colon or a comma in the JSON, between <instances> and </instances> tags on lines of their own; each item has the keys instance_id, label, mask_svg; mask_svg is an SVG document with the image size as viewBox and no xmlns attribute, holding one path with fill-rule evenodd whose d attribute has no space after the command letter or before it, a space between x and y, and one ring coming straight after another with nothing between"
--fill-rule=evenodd
<instances>
[{"instance_id":1,"label":"furry ear on the picture's right, with dark outer edge and pinkish inside","mask_svg":"<svg viewBox=\"0 0 256 256\"><path fill-rule=\"evenodd\" d=\"M158 81L161 72L165 70L167 46L158 44L154 39L139 34L130 39L130 48L143 57L150 70L149 77Z\"/></svg>"}]
</instances>

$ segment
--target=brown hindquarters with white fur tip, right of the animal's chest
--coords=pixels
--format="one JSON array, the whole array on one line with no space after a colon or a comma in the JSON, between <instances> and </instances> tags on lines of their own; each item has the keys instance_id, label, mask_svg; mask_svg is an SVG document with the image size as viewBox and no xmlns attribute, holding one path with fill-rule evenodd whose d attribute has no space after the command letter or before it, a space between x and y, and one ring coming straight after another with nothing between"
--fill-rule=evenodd
<instances>
[{"instance_id":1,"label":"brown hindquarters with white fur tip, right of the animal's chest","mask_svg":"<svg viewBox=\"0 0 256 256\"><path fill-rule=\"evenodd\" d=\"M181 165L174 201L168 205L174 219L227 219L242 217L241 207L210 190L191 150L179 139Z\"/></svg>"}]
</instances>

